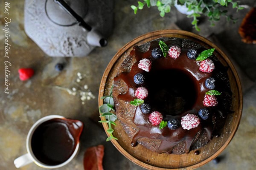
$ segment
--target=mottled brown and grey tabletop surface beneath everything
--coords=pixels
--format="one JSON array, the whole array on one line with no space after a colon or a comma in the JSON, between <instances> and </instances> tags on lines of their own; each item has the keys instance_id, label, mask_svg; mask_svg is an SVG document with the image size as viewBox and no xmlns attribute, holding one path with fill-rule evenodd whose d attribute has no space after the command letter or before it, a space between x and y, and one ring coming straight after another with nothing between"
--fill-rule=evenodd
<instances>
[{"instance_id":1,"label":"mottled brown and grey tabletop surface beneath everything","mask_svg":"<svg viewBox=\"0 0 256 170\"><path fill-rule=\"evenodd\" d=\"M87 57L58 58L49 57L26 35L23 23L23 0L6 0L10 3L9 15L4 13L5 1L0 1L0 169L15 170L13 161L26 153L26 134L32 124L49 114L60 114L84 122L79 155L70 164L59 170L82 170L83 154L87 147L103 144L105 170L143 170L119 153L111 142L106 142L106 134L99 121L98 89L102 74L108 62L130 40L149 31L169 29L178 26L204 37L212 38L236 62L244 87L244 106L239 129L228 147L221 153L218 164L209 162L199 170L254 170L256 161L256 46L244 44L238 34L239 24L249 11L246 8L236 13L237 23L226 22L225 18L210 27L202 18L201 31L195 31L191 19L172 8L171 13L161 18L156 8L145 8L136 15L131 11L134 0L116 0L114 2L113 34L108 37L108 46L95 48ZM255 0L241 0L241 3L256 6ZM9 28L9 58L5 58L5 17L12 19ZM8 70L9 94L5 93L5 61L11 63ZM64 62L63 71L55 71L54 66ZM35 75L22 82L18 69L30 67ZM78 82L81 73L81 81ZM87 88L84 88L87 85ZM69 94L72 88L89 93L90 99L81 100L79 93ZM35 164L29 164L21 170L41 170Z\"/></svg>"}]
</instances>

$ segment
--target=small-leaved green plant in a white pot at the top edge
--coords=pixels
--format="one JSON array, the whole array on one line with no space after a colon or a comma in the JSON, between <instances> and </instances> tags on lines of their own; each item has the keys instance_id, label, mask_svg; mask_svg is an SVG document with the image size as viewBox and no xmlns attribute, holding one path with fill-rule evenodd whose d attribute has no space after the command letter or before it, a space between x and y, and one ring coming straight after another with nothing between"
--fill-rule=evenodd
<instances>
[{"instance_id":1,"label":"small-leaved green plant in a white pot at the top edge","mask_svg":"<svg viewBox=\"0 0 256 170\"><path fill-rule=\"evenodd\" d=\"M138 5L132 5L131 8L136 14L138 9L141 10L144 6L148 8L155 6L160 11L160 16L164 17L166 13L171 11L172 7L175 7L181 13L186 14L187 17L191 17L192 26L200 31L198 18L201 16L208 17L211 26L214 26L214 22L220 20L221 16L225 16L227 21L232 20L235 23L236 19L227 13L229 5L232 5L232 8L236 8L237 11L243 9L239 2L235 0L143 0L138 1Z\"/></svg>"}]
</instances>

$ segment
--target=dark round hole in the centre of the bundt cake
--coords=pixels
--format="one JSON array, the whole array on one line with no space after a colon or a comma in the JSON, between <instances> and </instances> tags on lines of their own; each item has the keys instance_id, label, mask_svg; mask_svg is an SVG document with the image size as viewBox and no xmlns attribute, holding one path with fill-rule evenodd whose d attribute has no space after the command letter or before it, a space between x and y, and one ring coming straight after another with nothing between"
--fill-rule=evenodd
<instances>
[{"instance_id":1,"label":"dark round hole in the centre of the bundt cake","mask_svg":"<svg viewBox=\"0 0 256 170\"><path fill-rule=\"evenodd\" d=\"M185 71L152 71L147 85L152 110L160 111L164 116L176 116L191 109L197 98L195 82Z\"/></svg>"}]
</instances>

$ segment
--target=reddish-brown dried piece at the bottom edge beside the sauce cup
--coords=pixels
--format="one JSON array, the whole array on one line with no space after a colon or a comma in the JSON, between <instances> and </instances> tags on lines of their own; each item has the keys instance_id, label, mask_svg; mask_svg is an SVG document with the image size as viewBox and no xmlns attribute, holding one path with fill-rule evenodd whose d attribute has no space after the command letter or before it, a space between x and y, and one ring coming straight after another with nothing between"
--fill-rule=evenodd
<instances>
[{"instance_id":1,"label":"reddish-brown dried piece at the bottom edge beside the sauce cup","mask_svg":"<svg viewBox=\"0 0 256 170\"><path fill-rule=\"evenodd\" d=\"M103 170L102 160L104 146L98 145L87 148L84 153L84 170Z\"/></svg>"}]
</instances>

